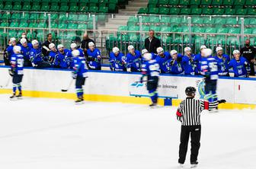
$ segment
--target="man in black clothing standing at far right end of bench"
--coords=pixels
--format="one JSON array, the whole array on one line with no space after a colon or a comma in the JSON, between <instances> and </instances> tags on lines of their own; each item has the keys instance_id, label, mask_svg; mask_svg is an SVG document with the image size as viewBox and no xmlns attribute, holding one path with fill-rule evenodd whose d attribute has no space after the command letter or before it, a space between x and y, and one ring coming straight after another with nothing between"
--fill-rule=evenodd
<instances>
[{"instance_id":1,"label":"man in black clothing standing at far right end of bench","mask_svg":"<svg viewBox=\"0 0 256 169\"><path fill-rule=\"evenodd\" d=\"M254 62L255 62L256 49L254 48L254 46L250 46L250 40L245 40L245 47L243 47L240 50L240 53L250 63L250 67L251 67L250 75L255 75Z\"/></svg>"}]
</instances>

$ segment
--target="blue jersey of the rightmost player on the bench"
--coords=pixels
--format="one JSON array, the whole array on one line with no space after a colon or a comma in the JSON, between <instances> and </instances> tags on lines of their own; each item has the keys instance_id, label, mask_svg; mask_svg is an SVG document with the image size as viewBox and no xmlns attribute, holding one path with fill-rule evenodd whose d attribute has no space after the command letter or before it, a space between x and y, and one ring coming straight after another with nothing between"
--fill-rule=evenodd
<instances>
[{"instance_id":1,"label":"blue jersey of the rightmost player on the bench","mask_svg":"<svg viewBox=\"0 0 256 169\"><path fill-rule=\"evenodd\" d=\"M235 77L246 77L247 72L250 72L250 64L244 57L240 57L239 60L231 59L229 68L233 69Z\"/></svg>"}]
</instances>

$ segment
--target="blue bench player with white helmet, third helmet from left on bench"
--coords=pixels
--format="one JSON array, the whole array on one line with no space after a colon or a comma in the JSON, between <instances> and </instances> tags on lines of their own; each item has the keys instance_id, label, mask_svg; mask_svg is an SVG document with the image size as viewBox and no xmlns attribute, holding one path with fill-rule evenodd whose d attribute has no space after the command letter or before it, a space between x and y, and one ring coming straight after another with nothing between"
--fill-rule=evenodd
<instances>
[{"instance_id":1,"label":"blue bench player with white helmet, third helmet from left on bench","mask_svg":"<svg viewBox=\"0 0 256 169\"><path fill-rule=\"evenodd\" d=\"M49 68L50 62L43 61L42 50L37 40L32 40L33 48L30 49L30 61L35 68Z\"/></svg>"}]
</instances>

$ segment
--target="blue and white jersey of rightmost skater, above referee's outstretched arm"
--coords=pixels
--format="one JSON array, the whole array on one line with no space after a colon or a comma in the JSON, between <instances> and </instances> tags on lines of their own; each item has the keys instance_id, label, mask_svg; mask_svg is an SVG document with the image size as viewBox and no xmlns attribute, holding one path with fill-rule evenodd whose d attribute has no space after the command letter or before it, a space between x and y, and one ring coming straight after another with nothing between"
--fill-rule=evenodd
<instances>
[{"instance_id":1,"label":"blue and white jersey of rightmost skater, above referee's outstretched arm","mask_svg":"<svg viewBox=\"0 0 256 169\"><path fill-rule=\"evenodd\" d=\"M209 80L217 80L219 78L218 63L213 57L202 57L201 74Z\"/></svg>"}]
</instances>

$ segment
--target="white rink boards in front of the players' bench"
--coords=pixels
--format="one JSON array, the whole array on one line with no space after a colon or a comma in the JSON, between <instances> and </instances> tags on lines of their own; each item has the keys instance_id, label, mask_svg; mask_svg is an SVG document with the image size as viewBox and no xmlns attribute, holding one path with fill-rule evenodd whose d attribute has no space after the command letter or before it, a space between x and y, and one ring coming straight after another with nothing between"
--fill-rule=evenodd
<instances>
[{"instance_id":1,"label":"white rink boards in front of the players' bench","mask_svg":"<svg viewBox=\"0 0 256 169\"><path fill-rule=\"evenodd\" d=\"M134 85L139 81L141 75L131 73L113 72L89 72L85 81L85 94L101 94L110 96L129 97L130 94L147 95L146 86ZM0 67L0 86L5 88L8 75L8 68ZM23 89L26 91L50 91L60 92L66 88L72 80L71 71L53 69L24 69ZM174 97L184 99L184 90L187 86L194 86L199 91L202 82L200 77L162 75L158 83L158 94L160 97ZM222 78L218 81L217 94L220 99L224 98L229 103L235 104L256 104L256 81L238 80L234 78ZM240 88L238 88L240 85ZM11 81L7 88L11 88ZM163 88L165 87L165 88ZM69 93L75 92L75 81ZM197 94L200 96L200 94Z\"/></svg>"}]
</instances>

